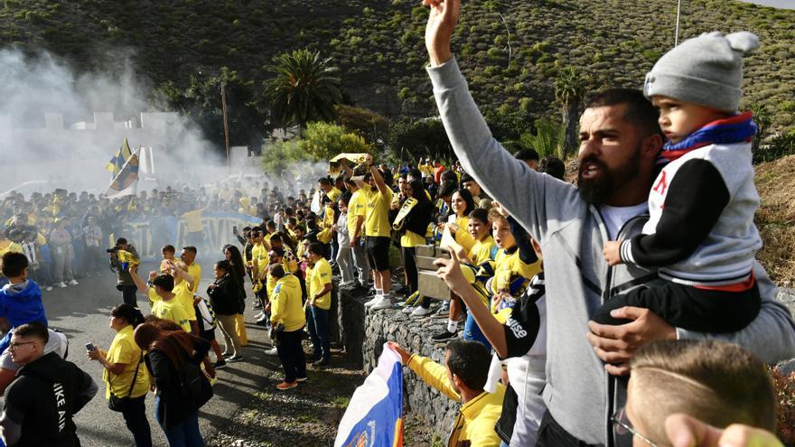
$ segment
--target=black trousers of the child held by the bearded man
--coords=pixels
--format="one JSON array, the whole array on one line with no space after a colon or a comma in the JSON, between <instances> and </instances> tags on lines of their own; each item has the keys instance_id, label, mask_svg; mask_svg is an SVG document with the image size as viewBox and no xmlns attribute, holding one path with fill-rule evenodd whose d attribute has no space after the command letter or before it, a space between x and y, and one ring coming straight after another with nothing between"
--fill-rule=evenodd
<instances>
[{"instance_id":1,"label":"black trousers of the child held by the bearded man","mask_svg":"<svg viewBox=\"0 0 795 447\"><path fill-rule=\"evenodd\" d=\"M753 321L762 301L756 284L744 292L724 292L666 282L661 287L639 287L616 295L592 319L602 324L628 323L629 320L610 316L610 311L624 306L649 309L669 324L688 331L725 333L740 331Z\"/></svg>"}]
</instances>

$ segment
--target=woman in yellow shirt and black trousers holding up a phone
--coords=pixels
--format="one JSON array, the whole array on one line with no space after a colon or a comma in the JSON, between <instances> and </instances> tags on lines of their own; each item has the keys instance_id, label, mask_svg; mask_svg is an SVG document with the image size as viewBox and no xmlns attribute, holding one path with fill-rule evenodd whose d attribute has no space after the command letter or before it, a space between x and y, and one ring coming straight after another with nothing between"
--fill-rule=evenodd
<instances>
[{"instance_id":1,"label":"woman in yellow shirt and black trousers holding up a phone","mask_svg":"<svg viewBox=\"0 0 795 447\"><path fill-rule=\"evenodd\" d=\"M102 379L108 385L105 397L108 406L124 416L127 429L133 433L136 447L151 447L152 432L146 420L145 400L149 392L149 373L143 366L141 348L133 340L133 331L144 320L141 312L130 304L118 304L110 311L110 329L116 331L108 350L95 347L86 355L97 360L104 370Z\"/></svg>"}]
</instances>

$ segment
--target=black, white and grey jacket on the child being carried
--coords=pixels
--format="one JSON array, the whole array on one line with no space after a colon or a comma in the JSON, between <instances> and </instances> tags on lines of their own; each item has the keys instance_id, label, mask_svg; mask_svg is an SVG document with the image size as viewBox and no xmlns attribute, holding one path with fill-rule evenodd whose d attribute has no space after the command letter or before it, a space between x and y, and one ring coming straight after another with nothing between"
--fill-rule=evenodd
<instances>
[{"instance_id":1,"label":"black, white and grey jacket on the child being carried","mask_svg":"<svg viewBox=\"0 0 795 447\"><path fill-rule=\"evenodd\" d=\"M694 149L659 172L649 222L622 243L622 261L659 267L660 277L678 284L742 283L762 247L753 225L758 207L750 143Z\"/></svg>"}]
</instances>

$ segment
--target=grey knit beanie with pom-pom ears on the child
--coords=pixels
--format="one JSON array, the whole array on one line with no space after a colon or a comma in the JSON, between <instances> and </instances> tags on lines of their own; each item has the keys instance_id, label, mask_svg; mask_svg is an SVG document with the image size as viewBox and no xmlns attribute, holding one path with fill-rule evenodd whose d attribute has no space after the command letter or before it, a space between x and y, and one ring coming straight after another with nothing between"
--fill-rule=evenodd
<instances>
[{"instance_id":1,"label":"grey knit beanie with pom-pom ears on the child","mask_svg":"<svg viewBox=\"0 0 795 447\"><path fill-rule=\"evenodd\" d=\"M757 48L759 38L745 31L688 39L659 58L643 93L735 112L743 95L743 55Z\"/></svg>"}]
</instances>

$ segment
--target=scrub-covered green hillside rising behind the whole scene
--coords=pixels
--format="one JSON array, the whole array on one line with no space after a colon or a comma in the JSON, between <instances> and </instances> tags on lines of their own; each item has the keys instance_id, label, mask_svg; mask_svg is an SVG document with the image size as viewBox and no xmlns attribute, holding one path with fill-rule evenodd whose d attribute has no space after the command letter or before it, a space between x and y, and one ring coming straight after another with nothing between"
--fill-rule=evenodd
<instances>
[{"instance_id":1,"label":"scrub-covered green hillside rising behind the whole scene","mask_svg":"<svg viewBox=\"0 0 795 447\"><path fill-rule=\"evenodd\" d=\"M278 52L332 55L351 102L387 116L434 113L423 66L426 10L418 0L5 0L0 45L43 48L85 70L108 49L130 49L155 85L185 86L202 67L263 80ZM557 110L557 68L582 68L594 87L641 85L673 44L676 0L472 0L455 52L483 106ZM745 105L762 104L775 130L795 128L795 11L734 0L684 2L681 36L749 30L762 50L746 63ZM510 44L510 52L509 52ZM111 53L112 54L112 53ZM255 84L258 85L258 84Z\"/></svg>"}]
</instances>

